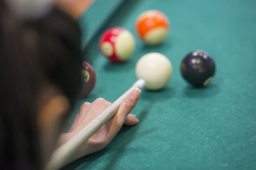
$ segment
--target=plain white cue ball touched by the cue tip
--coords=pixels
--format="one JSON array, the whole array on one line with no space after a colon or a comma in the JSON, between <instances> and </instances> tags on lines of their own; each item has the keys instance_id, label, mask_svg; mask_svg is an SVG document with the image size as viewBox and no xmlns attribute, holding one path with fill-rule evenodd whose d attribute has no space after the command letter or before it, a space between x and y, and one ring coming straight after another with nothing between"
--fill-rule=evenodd
<instances>
[{"instance_id":1,"label":"plain white cue ball touched by the cue tip","mask_svg":"<svg viewBox=\"0 0 256 170\"><path fill-rule=\"evenodd\" d=\"M170 81L172 63L161 53L147 53L136 64L136 76L146 81L146 89L160 90Z\"/></svg>"}]
</instances>

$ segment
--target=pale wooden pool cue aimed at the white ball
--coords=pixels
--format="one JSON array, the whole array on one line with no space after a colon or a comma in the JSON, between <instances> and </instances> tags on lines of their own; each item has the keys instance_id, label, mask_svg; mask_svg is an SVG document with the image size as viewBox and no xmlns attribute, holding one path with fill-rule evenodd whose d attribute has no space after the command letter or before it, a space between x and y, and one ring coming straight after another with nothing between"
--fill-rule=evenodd
<instances>
[{"instance_id":1,"label":"pale wooden pool cue aimed at the white ball","mask_svg":"<svg viewBox=\"0 0 256 170\"><path fill-rule=\"evenodd\" d=\"M102 111L100 115L92 120L88 125L86 125L81 131L77 132L75 136L70 138L66 143L58 147L51 156L45 169L55 170L60 169L65 162L72 157L72 155L79 149L87 139L89 139L102 125L106 124L110 118L112 118L116 111L118 110L120 104L128 96L128 94L138 89L143 89L145 86L144 80L136 81L130 89L128 89L122 96L120 96L114 103L112 103L106 110Z\"/></svg>"}]
</instances>

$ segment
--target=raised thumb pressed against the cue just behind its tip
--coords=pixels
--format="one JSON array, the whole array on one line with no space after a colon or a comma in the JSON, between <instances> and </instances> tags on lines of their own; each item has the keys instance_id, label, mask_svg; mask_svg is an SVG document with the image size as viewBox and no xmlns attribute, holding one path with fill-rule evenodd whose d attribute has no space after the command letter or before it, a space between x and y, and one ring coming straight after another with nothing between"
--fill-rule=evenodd
<instances>
[{"instance_id":1,"label":"raised thumb pressed against the cue just behind its tip","mask_svg":"<svg viewBox=\"0 0 256 170\"><path fill-rule=\"evenodd\" d=\"M124 120L128 113L133 110L138 100L140 99L141 90L136 88L125 97L124 101L121 103L118 109L118 115L124 117Z\"/></svg>"}]
</instances>

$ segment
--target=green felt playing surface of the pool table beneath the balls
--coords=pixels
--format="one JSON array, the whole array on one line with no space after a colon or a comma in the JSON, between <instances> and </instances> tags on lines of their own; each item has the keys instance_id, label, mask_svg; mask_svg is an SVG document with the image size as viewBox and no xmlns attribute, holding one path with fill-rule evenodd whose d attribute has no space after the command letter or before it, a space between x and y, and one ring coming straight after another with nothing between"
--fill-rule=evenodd
<instances>
[{"instance_id":1,"label":"green felt playing surface of the pool table beneath the balls","mask_svg":"<svg viewBox=\"0 0 256 170\"><path fill-rule=\"evenodd\" d=\"M99 16L100 9L108 8L98 7L93 13ZM140 118L138 125L123 127L104 150L64 169L256 169L255 7L256 1L243 0L120 3L84 46L97 83L79 101L72 119L84 101L104 97L113 102L131 87L136 62L145 53L166 55L173 65L172 79L159 92L142 91L132 111ZM138 15L149 9L163 11L172 25L166 41L156 47L143 45L134 30ZM93 20L95 15L87 17ZM90 25L83 17L79 22L82 28ZM99 52L100 34L113 26L125 27L136 39L136 50L124 64L111 64ZM216 62L214 79L202 89L188 85L180 74L184 55L197 49Z\"/></svg>"}]
</instances>

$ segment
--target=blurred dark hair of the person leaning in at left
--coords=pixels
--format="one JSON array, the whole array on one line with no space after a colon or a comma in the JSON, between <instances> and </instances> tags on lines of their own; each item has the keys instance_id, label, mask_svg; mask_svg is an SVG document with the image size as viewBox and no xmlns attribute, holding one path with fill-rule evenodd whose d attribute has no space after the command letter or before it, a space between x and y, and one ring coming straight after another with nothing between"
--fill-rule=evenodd
<instances>
[{"instance_id":1,"label":"blurred dark hair of the person leaning in at left","mask_svg":"<svg viewBox=\"0 0 256 170\"><path fill-rule=\"evenodd\" d=\"M82 82L80 37L76 21L58 8L25 21L0 1L0 169L42 169L36 100L52 85L74 106Z\"/></svg>"}]
</instances>

